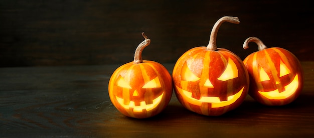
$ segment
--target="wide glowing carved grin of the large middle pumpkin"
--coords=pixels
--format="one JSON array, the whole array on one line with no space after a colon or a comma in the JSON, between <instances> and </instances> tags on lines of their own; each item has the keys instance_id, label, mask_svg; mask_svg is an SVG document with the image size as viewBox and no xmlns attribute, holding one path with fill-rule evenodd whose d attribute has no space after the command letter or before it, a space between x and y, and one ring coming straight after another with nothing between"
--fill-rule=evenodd
<instances>
[{"instance_id":1,"label":"wide glowing carved grin of the large middle pumpkin","mask_svg":"<svg viewBox=\"0 0 314 138\"><path fill-rule=\"evenodd\" d=\"M204 96L202 96L198 100L198 99L195 99L195 98L192 97L192 93L191 92L183 90L183 89L181 89L179 87L177 87L177 89L179 90L179 93L181 95L184 95L184 99L186 101L188 101L190 104L201 106L203 103L211 103L212 108L219 108L219 107L228 106L228 105L234 103L237 99L239 99L240 96L242 95L243 90L244 90L244 86L235 95L228 96L228 100L227 101L220 101L219 97L204 97Z\"/></svg>"}]
</instances>

